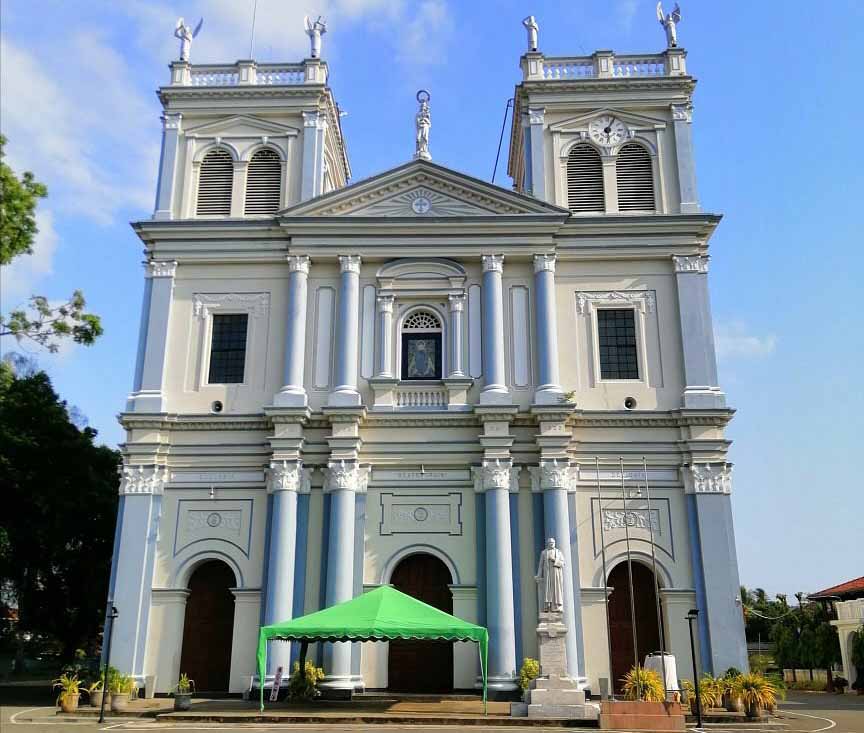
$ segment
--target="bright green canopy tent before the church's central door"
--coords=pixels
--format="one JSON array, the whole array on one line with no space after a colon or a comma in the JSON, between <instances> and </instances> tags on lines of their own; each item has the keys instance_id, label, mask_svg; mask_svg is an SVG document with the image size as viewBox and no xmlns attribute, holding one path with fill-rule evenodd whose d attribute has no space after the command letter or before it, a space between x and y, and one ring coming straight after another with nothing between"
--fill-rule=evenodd
<instances>
[{"instance_id":1,"label":"bright green canopy tent before the church's central door","mask_svg":"<svg viewBox=\"0 0 864 733\"><path fill-rule=\"evenodd\" d=\"M279 624L262 626L258 634L258 679L261 710L267 672L267 642L280 641L388 641L390 639L442 639L476 641L483 676L486 707L486 661L489 632L482 626L439 611L389 586L381 586L336 606ZM305 657L305 644L301 657ZM301 664L301 670L303 665Z\"/></svg>"}]
</instances>

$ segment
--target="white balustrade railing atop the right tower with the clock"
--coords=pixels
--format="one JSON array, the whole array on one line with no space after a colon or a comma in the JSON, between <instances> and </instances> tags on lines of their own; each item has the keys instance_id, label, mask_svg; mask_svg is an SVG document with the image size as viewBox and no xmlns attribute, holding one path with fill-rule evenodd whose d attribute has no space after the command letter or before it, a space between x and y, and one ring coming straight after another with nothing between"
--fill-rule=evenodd
<instances>
[{"instance_id":1,"label":"white balustrade railing atop the right tower with the clock","mask_svg":"<svg viewBox=\"0 0 864 733\"><path fill-rule=\"evenodd\" d=\"M526 53L522 57L525 81L574 81L580 79L686 76L687 52L670 48L663 53L616 56L613 51L595 51L591 56L550 56Z\"/></svg>"}]
</instances>

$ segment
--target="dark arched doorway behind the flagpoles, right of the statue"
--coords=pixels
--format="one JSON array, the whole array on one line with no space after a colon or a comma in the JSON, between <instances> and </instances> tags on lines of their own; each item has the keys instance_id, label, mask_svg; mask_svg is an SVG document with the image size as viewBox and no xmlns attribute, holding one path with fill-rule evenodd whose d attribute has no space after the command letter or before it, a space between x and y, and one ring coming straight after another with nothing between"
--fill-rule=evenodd
<instances>
[{"instance_id":1,"label":"dark arched doorway behind the flagpoles, right of the statue","mask_svg":"<svg viewBox=\"0 0 864 733\"><path fill-rule=\"evenodd\" d=\"M657 596L654 573L640 562L633 562L633 600L636 617L636 636L639 644L639 664L645 657L660 650L660 631L657 628ZM621 678L635 663L633 654L633 624L630 614L630 587L627 563L616 565L609 573L609 633L612 637L612 679L615 689L621 689Z\"/></svg>"}]
</instances>

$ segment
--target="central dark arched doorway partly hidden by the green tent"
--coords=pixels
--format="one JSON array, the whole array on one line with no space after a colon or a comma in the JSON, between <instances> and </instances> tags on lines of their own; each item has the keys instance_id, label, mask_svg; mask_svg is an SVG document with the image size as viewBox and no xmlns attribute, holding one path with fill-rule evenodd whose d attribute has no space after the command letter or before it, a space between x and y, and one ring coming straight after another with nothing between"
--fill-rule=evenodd
<instances>
[{"instance_id":1,"label":"central dark arched doorway partly hidden by the green tent","mask_svg":"<svg viewBox=\"0 0 864 733\"><path fill-rule=\"evenodd\" d=\"M430 606L453 613L453 579L447 566L433 555L409 555L393 570L390 583L397 590ZM453 642L395 639L387 663L388 689L394 692L450 692L453 689Z\"/></svg>"}]
</instances>

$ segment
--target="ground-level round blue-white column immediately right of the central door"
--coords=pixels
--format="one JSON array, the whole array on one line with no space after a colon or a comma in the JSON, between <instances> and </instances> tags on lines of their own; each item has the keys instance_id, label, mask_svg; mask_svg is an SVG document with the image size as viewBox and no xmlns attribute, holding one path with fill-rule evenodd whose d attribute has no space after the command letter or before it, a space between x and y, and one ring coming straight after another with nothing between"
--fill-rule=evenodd
<instances>
[{"instance_id":1,"label":"ground-level round blue-white column immediately right of the central door","mask_svg":"<svg viewBox=\"0 0 864 733\"><path fill-rule=\"evenodd\" d=\"M518 469L516 470L518 472ZM486 626L490 690L516 689L516 622L513 606L513 542L510 536L510 462L484 460L479 469L486 508Z\"/></svg>"}]
</instances>

